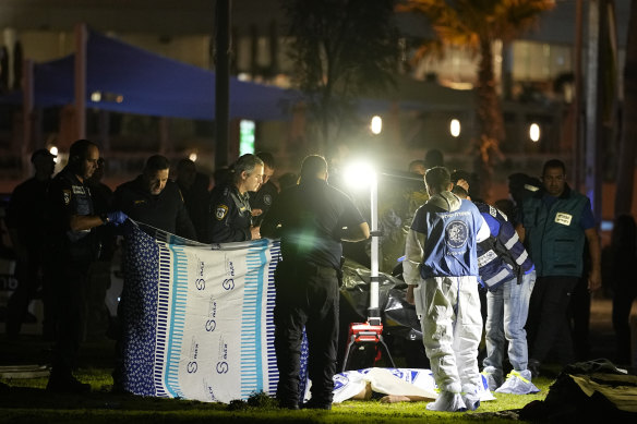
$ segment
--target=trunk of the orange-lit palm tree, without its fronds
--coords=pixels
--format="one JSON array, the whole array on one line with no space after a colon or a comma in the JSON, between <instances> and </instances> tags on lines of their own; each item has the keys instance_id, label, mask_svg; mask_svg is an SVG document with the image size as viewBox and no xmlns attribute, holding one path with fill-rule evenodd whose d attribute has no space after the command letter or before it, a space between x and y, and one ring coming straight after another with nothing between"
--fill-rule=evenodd
<instances>
[{"instance_id":1,"label":"trunk of the orange-lit palm tree, without its fronds","mask_svg":"<svg viewBox=\"0 0 637 424\"><path fill-rule=\"evenodd\" d=\"M476 157L476 172L480 181L481 197L490 202L493 165L500 157L500 143L504 140L504 120L500 98L495 90L493 73L493 52L491 40L480 43L480 62L478 69L477 116L479 138Z\"/></svg>"}]
</instances>

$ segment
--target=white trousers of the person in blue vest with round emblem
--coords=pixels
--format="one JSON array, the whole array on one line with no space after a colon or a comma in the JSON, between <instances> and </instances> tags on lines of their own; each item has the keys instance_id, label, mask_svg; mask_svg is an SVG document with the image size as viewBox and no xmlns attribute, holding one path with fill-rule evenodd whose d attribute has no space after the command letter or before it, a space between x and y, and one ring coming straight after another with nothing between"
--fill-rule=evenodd
<instances>
[{"instance_id":1,"label":"white trousers of the person in blue vest with round emblem","mask_svg":"<svg viewBox=\"0 0 637 424\"><path fill-rule=\"evenodd\" d=\"M438 389L459 393L481 384L482 315L476 277L435 277L413 290L422 341Z\"/></svg>"}]
</instances>

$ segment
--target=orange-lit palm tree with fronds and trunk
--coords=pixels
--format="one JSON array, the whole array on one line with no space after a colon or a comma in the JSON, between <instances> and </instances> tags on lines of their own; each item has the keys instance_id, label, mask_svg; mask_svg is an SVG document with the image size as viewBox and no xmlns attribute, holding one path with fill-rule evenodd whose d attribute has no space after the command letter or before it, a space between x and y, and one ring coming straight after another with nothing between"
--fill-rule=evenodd
<instances>
[{"instance_id":1,"label":"orange-lit palm tree with fronds and trunk","mask_svg":"<svg viewBox=\"0 0 637 424\"><path fill-rule=\"evenodd\" d=\"M529 29L541 12L554 5L554 0L407 0L398 7L398 11L424 14L437 36L433 44L421 46L417 58L440 52L447 46L468 48L478 56L476 166L485 199L494 160L502 155L498 146L504 140L504 119L493 72L493 43L512 41Z\"/></svg>"}]
</instances>

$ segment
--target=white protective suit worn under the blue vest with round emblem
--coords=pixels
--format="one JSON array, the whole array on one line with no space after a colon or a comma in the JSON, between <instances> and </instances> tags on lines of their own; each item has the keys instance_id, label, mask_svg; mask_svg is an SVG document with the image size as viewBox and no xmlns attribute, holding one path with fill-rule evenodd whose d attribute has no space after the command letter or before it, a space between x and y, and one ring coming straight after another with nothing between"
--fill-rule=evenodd
<instances>
[{"instance_id":1,"label":"white protective suit worn under the blue vest with round emblem","mask_svg":"<svg viewBox=\"0 0 637 424\"><path fill-rule=\"evenodd\" d=\"M442 192L432 196L428 204L433 203L445 211L454 211L458 210L461 202L468 201L461 201L450 192ZM484 219L481 216L479 219L480 228L471 229L477 233L476 242L485 240L490 233ZM402 266L405 281L418 286L413 289L416 312L422 326L431 370L441 390L435 404L429 404L428 409L474 410L479 405L478 387L481 384L478 347L482 335L482 315L478 277L442 276L423 280L420 266L424 261L423 247L426 243L426 233L410 229ZM472 255L476 255L474 245L468 245L467 249L472 249Z\"/></svg>"}]
</instances>

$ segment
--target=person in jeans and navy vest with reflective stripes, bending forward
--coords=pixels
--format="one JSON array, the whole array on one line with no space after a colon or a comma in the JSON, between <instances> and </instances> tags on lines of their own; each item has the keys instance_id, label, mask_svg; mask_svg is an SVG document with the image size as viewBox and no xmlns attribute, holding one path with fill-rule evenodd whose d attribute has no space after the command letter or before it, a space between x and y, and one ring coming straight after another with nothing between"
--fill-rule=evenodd
<instances>
[{"instance_id":1,"label":"person in jeans and navy vest with reflective stripes, bending forward","mask_svg":"<svg viewBox=\"0 0 637 424\"><path fill-rule=\"evenodd\" d=\"M469 198L467 191L459 185L454 186L452 192L460 198ZM491 232L486 240L478 243L480 279L488 290L484 323L486 356L482 361L482 374L486 377L489 389L498 393L538 392L540 390L531 383L531 372L527 368L529 356L525 330L536 268L508 217L485 203L473 204ZM502 368L505 340L508 341L508 360L513 366L506 381Z\"/></svg>"}]
</instances>

